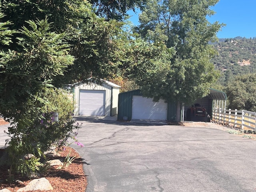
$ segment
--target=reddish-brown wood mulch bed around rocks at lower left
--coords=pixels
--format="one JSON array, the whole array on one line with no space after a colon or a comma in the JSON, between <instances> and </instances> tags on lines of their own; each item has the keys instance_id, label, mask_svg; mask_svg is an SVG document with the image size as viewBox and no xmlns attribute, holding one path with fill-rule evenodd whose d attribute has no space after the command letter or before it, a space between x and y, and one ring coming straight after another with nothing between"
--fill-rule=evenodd
<instances>
[{"instance_id":1,"label":"reddish-brown wood mulch bed around rocks at lower left","mask_svg":"<svg viewBox=\"0 0 256 192\"><path fill-rule=\"evenodd\" d=\"M62 159L68 155L70 152L70 156L78 157L79 154L76 150L66 147L66 150L59 151L58 154L60 156L54 157L55 159ZM53 159L54 159L53 158ZM50 184L54 192L84 192L86 189L87 181L86 176L83 171L83 162L82 158L78 158L72 162L68 167L65 167L62 170L57 169L58 166L52 166L47 173L42 176L46 178ZM7 188L11 192L16 192L19 188L22 188L31 181L29 178L22 178L20 175L14 175L16 182L9 184L6 182L8 178L8 167L0 166L0 178L4 180L4 183L0 184L0 190ZM46 192L46 191L43 191Z\"/></svg>"}]
</instances>

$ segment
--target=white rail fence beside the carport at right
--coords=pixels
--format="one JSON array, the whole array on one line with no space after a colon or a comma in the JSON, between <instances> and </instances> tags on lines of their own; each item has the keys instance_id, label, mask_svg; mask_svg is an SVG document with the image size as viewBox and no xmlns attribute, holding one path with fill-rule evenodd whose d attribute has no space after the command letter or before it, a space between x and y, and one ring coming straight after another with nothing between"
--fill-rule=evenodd
<instances>
[{"instance_id":1,"label":"white rail fence beside the carport at right","mask_svg":"<svg viewBox=\"0 0 256 192\"><path fill-rule=\"evenodd\" d=\"M214 108L212 120L225 125L242 129L246 127L256 131L256 112Z\"/></svg>"}]
</instances>

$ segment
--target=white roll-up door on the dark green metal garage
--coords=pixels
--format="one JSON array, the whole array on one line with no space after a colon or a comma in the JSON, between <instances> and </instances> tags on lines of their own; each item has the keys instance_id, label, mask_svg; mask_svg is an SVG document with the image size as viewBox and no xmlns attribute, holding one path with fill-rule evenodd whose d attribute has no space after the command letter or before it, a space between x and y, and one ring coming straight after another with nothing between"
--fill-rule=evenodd
<instances>
[{"instance_id":1,"label":"white roll-up door on the dark green metal garage","mask_svg":"<svg viewBox=\"0 0 256 192\"><path fill-rule=\"evenodd\" d=\"M151 98L132 96L132 119L167 120L167 103Z\"/></svg>"}]
</instances>

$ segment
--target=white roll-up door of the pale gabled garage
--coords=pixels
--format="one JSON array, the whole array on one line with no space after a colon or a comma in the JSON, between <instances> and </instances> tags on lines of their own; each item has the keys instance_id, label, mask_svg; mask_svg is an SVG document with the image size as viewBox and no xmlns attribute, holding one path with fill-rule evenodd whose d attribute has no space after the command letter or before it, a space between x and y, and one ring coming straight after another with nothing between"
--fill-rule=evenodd
<instances>
[{"instance_id":1,"label":"white roll-up door of the pale gabled garage","mask_svg":"<svg viewBox=\"0 0 256 192\"><path fill-rule=\"evenodd\" d=\"M105 90L80 90L79 115L105 116Z\"/></svg>"}]
</instances>

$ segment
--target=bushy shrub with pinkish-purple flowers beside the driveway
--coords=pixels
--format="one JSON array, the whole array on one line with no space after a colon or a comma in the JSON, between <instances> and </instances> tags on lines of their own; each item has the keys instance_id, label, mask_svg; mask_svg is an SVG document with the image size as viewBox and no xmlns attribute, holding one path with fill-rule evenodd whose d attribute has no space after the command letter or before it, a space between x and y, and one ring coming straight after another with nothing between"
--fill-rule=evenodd
<instances>
[{"instance_id":1,"label":"bushy shrub with pinkish-purple flowers beside the driveway","mask_svg":"<svg viewBox=\"0 0 256 192\"><path fill-rule=\"evenodd\" d=\"M67 145L68 138L75 138L73 130L80 128L72 119L73 104L65 90L50 88L40 94L40 101L30 101L30 110L12 122L7 132L11 171L22 175L28 170L39 171L36 160L39 162L38 158L51 146ZM54 112L59 113L58 122L54 121ZM36 157L33 163L22 158L25 154Z\"/></svg>"}]
</instances>

